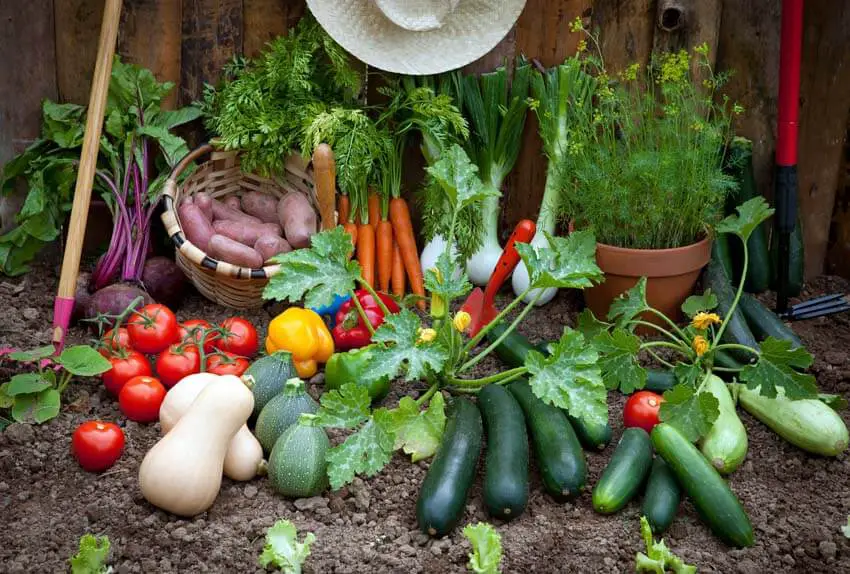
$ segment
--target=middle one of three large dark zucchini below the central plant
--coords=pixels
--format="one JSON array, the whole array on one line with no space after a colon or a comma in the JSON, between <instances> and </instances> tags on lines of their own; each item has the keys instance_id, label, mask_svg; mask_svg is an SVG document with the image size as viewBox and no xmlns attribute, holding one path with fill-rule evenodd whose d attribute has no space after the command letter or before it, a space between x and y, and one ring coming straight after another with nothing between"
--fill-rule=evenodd
<instances>
[{"instance_id":1,"label":"middle one of three large dark zucchini below the central plant","mask_svg":"<svg viewBox=\"0 0 850 574\"><path fill-rule=\"evenodd\" d=\"M528 435L522 409L501 385L478 393L478 408L487 429L484 504L490 516L516 518L528 503Z\"/></svg>"}]
</instances>

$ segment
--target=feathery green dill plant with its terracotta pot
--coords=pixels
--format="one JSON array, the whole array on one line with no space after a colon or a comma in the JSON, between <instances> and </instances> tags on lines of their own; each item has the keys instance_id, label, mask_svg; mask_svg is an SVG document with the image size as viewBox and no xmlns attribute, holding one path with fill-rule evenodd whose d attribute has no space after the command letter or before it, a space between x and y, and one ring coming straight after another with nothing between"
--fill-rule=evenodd
<instances>
[{"instance_id":1,"label":"feathery green dill plant with its terracotta pot","mask_svg":"<svg viewBox=\"0 0 850 574\"><path fill-rule=\"evenodd\" d=\"M580 22L573 29L598 46ZM565 215L594 232L606 276L585 300L605 317L611 301L646 276L650 304L678 319L736 186L724 150L741 108L718 96L726 75L714 73L705 44L693 54L659 54L648 69L634 64L616 80L586 45L575 57L598 87L593 105L573 114L560 163Z\"/></svg>"}]
</instances>

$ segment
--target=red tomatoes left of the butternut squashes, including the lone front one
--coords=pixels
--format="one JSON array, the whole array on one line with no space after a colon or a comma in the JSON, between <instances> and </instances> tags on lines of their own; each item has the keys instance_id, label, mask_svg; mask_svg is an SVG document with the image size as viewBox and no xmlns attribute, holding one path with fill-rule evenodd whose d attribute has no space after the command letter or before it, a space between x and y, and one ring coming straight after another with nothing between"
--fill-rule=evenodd
<instances>
[{"instance_id":1,"label":"red tomatoes left of the butternut squashes, including the lone front one","mask_svg":"<svg viewBox=\"0 0 850 574\"><path fill-rule=\"evenodd\" d=\"M121 412L140 423L158 420L168 389L201 372L202 364L208 373L239 376L258 348L257 331L246 319L230 317L217 326L203 319L179 323L160 304L145 305L98 343L112 365L102 375L104 386L118 397ZM118 425L87 421L74 432L72 451L84 469L100 472L118 460L124 442Z\"/></svg>"}]
</instances>

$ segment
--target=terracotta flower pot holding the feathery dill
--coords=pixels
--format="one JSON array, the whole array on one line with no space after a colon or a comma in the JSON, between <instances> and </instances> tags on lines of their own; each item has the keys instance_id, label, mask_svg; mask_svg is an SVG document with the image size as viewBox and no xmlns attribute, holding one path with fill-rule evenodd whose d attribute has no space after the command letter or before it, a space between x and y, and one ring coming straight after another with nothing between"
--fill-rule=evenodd
<instances>
[{"instance_id":1,"label":"terracotta flower pot holding the feathery dill","mask_svg":"<svg viewBox=\"0 0 850 574\"><path fill-rule=\"evenodd\" d=\"M626 249L596 244L596 263L605 281L584 290L584 300L593 314L604 319L611 302L646 277L646 299L674 321L682 316L681 305L694 291L700 271L711 258L711 239L674 249ZM645 320L660 319L645 315Z\"/></svg>"}]
</instances>

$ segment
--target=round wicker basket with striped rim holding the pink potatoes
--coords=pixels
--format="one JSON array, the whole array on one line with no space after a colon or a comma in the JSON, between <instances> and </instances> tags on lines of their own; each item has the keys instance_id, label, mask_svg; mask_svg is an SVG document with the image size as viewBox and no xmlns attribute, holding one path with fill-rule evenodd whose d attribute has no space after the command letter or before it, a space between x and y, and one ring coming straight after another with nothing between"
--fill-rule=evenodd
<instances>
[{"instance_id":1,"label":"round wicker basket with striped rim holding the pink potatoes","mask_svg":"<svg viewBox=\"0 0 850 574\"><path fill-rule=\"evenodd\" d=\"M210 154L210 158L198 166L182 186L178 186L177 179L187 166L206 154ZM285 174L272 180L243 172L239 166L238 152L214 151L212 145L205 144L190 152L174 168L165 183L162 222L177 248L177 265L198 291L211 301L232 309L261 307L264 303L263 289L269 277L280 270L280 266L249 269L218 261L186 239L177 215L177 206L181 198L200 191L218 199L232 194L239 195L244 191L260 191L278 198L289 191L301 191L307 194L318 217L313 178L306 162L301 156L290 156Z\"/></svg>"}]
</instances>

